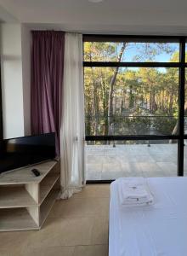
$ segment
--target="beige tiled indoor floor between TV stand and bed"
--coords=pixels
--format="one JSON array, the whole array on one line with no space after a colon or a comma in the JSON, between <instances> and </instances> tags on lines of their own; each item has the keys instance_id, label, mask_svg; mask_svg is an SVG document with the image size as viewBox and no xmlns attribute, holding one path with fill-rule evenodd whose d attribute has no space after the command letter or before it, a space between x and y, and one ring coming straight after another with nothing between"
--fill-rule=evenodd
<instances>
[{"instance_id":1,"label":"beige tiled indoor floor between TV stand and bed","mask_svg":"<svg viewBox=\"0 0 187 256\"><path fill-rule=\"evenodd\" d=\"M39 231L0 233L0 256L106 256L110 185L56 201Z\"/></svg>"}]
</instances>

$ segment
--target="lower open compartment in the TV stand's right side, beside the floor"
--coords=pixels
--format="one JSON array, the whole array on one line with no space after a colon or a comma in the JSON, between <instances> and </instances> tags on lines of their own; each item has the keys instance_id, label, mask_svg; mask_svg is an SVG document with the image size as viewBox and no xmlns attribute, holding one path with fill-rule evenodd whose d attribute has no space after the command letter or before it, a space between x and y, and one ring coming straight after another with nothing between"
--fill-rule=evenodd
<instances>
[{"instance_id":1,"label":"lower open compartment in the TV stand's right side, beside the floor","mask_svg":"<svg viewBox=\"0 0 187 256\"><path fill-rule=\"evenodd\" d=\"M40 226L42 226L42 224L48 217L48 213L51 211L58 194L59 189L51 190L48 194L47 200L42 202L42 205L40 207Z\"/></svg>"}]
</instances>

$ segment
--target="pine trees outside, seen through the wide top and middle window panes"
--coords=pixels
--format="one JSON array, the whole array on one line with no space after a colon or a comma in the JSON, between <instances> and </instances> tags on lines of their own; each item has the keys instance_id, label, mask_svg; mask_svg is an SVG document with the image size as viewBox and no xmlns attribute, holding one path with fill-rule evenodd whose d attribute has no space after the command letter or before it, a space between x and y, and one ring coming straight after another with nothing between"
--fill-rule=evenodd
<instances>
[{"instance_id":1,"label":"pine trees outside, seen through the wide top and middle window panes","mask_svg":"<svg viewBox=\"0 0 187 256\"><path fill-rule=\"evenodd\" d=\"M84 60L129 61L127 53L137 45L87 42ZM172 52L165 44L144 43L132 58L154 61L157 55ZM173 60L178 61L177 54ZM85 67L84 83L87 134L111 134L114 123L116 134L140 134L150 127L161 134L173 131L178 115L177 68ZM170 115L173 118L167 118Z\"/></svg>"}]
</instances>

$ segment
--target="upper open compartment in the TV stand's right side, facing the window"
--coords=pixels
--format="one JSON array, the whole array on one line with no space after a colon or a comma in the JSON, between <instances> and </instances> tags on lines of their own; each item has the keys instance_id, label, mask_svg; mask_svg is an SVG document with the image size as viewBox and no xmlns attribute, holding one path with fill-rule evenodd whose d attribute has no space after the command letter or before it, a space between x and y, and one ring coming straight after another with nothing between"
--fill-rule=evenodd
<instances>
[{"instance_id":1,"label":"upper open compartment in the TV stand's right side, facing the window","mask_svg":"<svg viewBox=\"0 0 187 256\"><path fill-rule=\"evenodd\" d=\"M42 183L40 183L40 200L39 204L47 197L48 193L53 189L54 183L59 179L59 174L48 175L44 177Z\"/></svg>"}]
</instances>

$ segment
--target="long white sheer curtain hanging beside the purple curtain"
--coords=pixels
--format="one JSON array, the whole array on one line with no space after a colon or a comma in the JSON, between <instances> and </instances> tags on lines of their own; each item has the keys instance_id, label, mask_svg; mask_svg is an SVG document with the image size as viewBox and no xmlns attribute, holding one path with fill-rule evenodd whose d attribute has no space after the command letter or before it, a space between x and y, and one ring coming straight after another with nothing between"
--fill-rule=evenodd
<instances>
[{"instance_id":1,"label":"long white sheer curtain hanging beside the purple curtain","mask_svg":"<svg viewBox=\"0 0 187 256\"><path fill-rule=\"evenodd\" d=\"M65 66L61 124L60 198L82 189L84 179L84 90L82 35L65 34Z\"/></svg>"}]
</instances>

